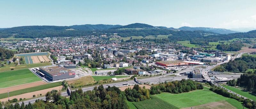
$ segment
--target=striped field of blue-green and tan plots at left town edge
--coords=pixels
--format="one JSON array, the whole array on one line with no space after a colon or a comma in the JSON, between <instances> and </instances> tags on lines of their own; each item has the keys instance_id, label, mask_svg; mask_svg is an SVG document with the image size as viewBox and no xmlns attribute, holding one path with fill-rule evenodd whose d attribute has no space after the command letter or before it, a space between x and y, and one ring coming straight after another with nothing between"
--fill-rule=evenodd
<instances>
[{"instance_id":1,"label":"striped field of blue-green and tan plots at left town edge","mask_svg":"<svg viewBox=\"0 0 256 109\"><path fill-rule=\"evenodd\" d=\"M51 62L51 60L48 58L49 53L47 52L15 54L15 55L22 58L24 57L26 64Z\"/></svg>"}]
</instances>

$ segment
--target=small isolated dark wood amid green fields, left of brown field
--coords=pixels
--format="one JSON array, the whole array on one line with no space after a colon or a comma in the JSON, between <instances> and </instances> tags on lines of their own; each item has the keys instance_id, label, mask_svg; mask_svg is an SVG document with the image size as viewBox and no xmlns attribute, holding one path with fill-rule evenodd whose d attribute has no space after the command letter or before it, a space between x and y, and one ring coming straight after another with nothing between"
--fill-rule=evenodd
<instances>
[{"instance_id":1,"label":"small isolated dark wood amid green fields, left of brown field","mask_svg":"<svg viewBox=\"0 0 256 109\"><path fill-rule=\"evenodd\" d=\"M231 44L218 44L217 49L221 51L239 51L242 48L242 44L239 43L231 43Z\"/></svg>"}]
</instances>

